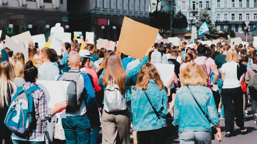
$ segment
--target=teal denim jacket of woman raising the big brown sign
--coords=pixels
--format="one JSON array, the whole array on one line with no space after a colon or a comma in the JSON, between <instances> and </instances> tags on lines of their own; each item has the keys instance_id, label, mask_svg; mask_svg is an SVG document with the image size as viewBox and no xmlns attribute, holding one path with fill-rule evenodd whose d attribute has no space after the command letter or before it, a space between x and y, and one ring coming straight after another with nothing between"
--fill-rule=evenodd
<instances>
[{"instance_id":1,"label":"teal denim jacket of woman raising the big brown sign","mask_svg":"<svg viewBox=\"0 0 257 144\"><path fill-rule=\"evenodd\" d=\"M128 92L128 87L129 87L128 86L128 82L129 82L128 79L132 79L134 76L136 76L139 73L139 71L142 68L142 66L144 64L146 64L147 62L148 62L148 56L145 55L142 58L142 60L139 63L139 65L137 65L135 68L133 68L132 70L127 72L127 75L125 75L126 92ZM103 86L104 87L104 91L105 91L106 86L104 86L103 83L102 83L102 76L103 76L104 72L105 72L105 70L103 70L102 75L100 75L100 77L99 77L98 86ZM127 101L130 101L130 99L131 99L131 96L127 95ZM103 101L103 104L104 104L104 101Z\"/></svg>"}]
</instances>

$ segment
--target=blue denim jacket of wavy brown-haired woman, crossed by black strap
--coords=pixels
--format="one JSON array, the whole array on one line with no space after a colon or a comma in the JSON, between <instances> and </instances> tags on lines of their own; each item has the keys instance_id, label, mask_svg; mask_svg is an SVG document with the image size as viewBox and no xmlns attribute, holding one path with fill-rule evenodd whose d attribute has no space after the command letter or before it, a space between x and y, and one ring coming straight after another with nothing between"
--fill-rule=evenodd
<instances>
[{"instance_id":1,"label":"blue denim jacket of wavy brown-haired woman, crossed by black strap","mask_svg":"<svg viewBox=\"0 0 257 144\"><path fill-rule=\"evenodd\" d=\"M160 90L155 81L151 79L145 92L154 108L167 123L166 115L168 114L168 108L166 90L164 88ZM153 130L165 127L162 119L158 119L154 113L154 110L142 89L132 90L131 104L134 131Z\"/></svg>"}]
</instances>

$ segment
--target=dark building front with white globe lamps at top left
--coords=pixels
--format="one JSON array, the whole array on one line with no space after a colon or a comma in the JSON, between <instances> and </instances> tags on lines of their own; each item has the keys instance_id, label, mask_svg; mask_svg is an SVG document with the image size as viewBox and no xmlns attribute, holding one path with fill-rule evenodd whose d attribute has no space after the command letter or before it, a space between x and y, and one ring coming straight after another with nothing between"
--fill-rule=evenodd
<instances>
[{"instance_id":1,"label":"dark building front with white globe lamps at top left","mask_svg":"<svg viewBox=\"0 0 257 144\"><path fill-rule=\"evenodd\" d=\"M56 23L65 26L67 22L67 0L0 0L1 40L5 35L17 35L29 30L31 35L45 34L50 36L50 28ZM8 28L12 23L13 28ZM31 24L32 28L28 25ZM47 29L45 25L50 27ZM11 32L10 32L10 31Z\"/></svg>"}]
</instances>

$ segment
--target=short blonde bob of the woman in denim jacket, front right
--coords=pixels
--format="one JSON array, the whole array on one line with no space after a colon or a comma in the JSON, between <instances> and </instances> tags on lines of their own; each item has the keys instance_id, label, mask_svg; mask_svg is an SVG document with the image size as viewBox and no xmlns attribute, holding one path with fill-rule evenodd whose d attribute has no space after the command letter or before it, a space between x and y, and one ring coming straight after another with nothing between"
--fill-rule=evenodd
<instances>
[{"instance_id":1,"label":"short blonde bob of the woman in denim jacket, front right","mask_svg":"<svg viewBox=\"0 0 257 144\"><path fill-rule=\"evenodd\" d=\"M208 75L203 68L196 63L189 63L180 74L180 81L183 86L200 85L207 86Z\"/></svg>"}]
</instances>

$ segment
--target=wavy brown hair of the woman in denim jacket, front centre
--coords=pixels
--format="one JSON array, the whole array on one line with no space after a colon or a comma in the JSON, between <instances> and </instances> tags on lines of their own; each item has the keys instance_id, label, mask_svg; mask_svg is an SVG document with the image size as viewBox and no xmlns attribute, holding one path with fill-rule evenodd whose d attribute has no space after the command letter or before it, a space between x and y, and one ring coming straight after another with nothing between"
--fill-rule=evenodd
<instances>
[{"instance_id":1,"label":"wavy brown hair of the woman in denim jacket, front centre","mask_svg":"<svg viewBox=\"0 0 257 144\"><path fill-rule=\"evenodd\" d=\"M160 90L164 88L158 70L150 63L144 64L138 74L136 85L133 87L133 89L146 90L151 79L155 81Z\"/></svg>"}]
</instances>

